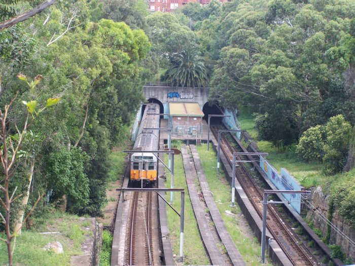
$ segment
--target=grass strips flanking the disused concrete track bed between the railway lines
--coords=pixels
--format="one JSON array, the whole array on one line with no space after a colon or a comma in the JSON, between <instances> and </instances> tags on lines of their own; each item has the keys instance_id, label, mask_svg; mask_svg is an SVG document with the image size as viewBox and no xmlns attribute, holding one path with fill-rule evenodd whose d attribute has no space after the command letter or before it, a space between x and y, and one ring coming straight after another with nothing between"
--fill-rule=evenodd
<instances>
[{"instance_id":1,"label":"grass strips flanking the disused concrete track bed between the railway lines","mask_svg":"<svg viewBox=\"0 0 355 266\"><path fill-rule=\"evenodd\" d=\"M180 147L181 143L174 143L174 145L178 145L178 147ZM238 207L230 207L231 189L226 179L223 177L223 174L216 174L216 155L214 151L206 151L206 144L202 144L201 147L198 146L197 149L200 153L200 158L203 158L203 160L201 160L202 166L206 173L206 178L210 186L210 190L214 195L214 199L217 202L217 207L221 212L228 232L234 240L239 252L241 253L243 259L246 261L247 265L261 265L261 263L259 262L261 248L258 244L257 239L252 236L252 233L249 231L249 229L248 232L243 232L243 230L240 229L240 227L238 226L238 221L236 217L234 215L228 215L225 212L226 210L229 210L233 213L238 213L238 215L241 214L241 211ZM165 160L167 161L167 157ZM170 174L167 172L166 186L169 187L169 184ZM174 156L174 187L185 188L185 191L187 192L186 178L181 155ZM165 198L170 201L170 194L167 194ZM173 206L177 210L180 209L180 195L178 195L177 193L175 193L174 195ZM174 254L179 254L180 217L177 216L169 207L167 207L166 209L172 250ZM202 240L198 232L196 219L192 211L192 206L188 193L185 194L184 230L184 265L209 264L207 255L205 254L203 248Z\"/></svg>"}]
</instances>

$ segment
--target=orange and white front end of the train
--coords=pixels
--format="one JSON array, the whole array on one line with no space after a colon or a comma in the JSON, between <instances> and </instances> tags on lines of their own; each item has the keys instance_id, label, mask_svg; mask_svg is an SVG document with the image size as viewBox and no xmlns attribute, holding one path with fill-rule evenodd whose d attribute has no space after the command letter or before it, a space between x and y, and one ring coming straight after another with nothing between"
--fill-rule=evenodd
<instances>
[{"instance_id":1,"label":"orange and white front end of the train","mask_svg":"<svg viewBox=\"0 0 355 266\"><path fill-rule=\"evenodd\" d=\"M143 181L143 186L154 185L157 180L157 158L152 153L133 153L131 155L131 182L137 185Z\"/></svg>"}]
</instances>

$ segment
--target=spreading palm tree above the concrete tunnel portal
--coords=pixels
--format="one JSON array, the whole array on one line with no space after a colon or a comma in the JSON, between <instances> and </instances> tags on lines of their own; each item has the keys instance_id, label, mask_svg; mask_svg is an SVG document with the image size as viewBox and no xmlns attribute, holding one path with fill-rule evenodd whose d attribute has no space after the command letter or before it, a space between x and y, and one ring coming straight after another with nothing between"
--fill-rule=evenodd
<instances>
[{"instance_id":1,"label":"spreading palm tree above the concrete tunnel portal","mask_svg":"<svg viewBox=\"0 0 355 266\"><path fill-rule=\"evenodd\" d=\"M203 87L207 82L207 71L203 59L195 50L183 50L170 60L171 66L165 80L173 86Z\"/></svg>"}]
</instances>

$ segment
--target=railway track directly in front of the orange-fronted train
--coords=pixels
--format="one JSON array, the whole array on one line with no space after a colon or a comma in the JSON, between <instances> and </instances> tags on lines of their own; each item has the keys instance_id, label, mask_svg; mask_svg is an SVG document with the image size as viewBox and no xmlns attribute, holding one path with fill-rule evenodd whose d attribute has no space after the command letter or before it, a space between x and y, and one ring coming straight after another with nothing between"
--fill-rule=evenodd
<instances>
[{"instance_id":1,"label":"railway track directly in front of the orange-fronted train","mask_svg":"<svg viewBox=\"0 0 355 266\"><path fill-rule=\"evenodd\" d=\"M152 192L133 192L128 216L125 265L154 265Z\"/></svg>"}]
</instances>

